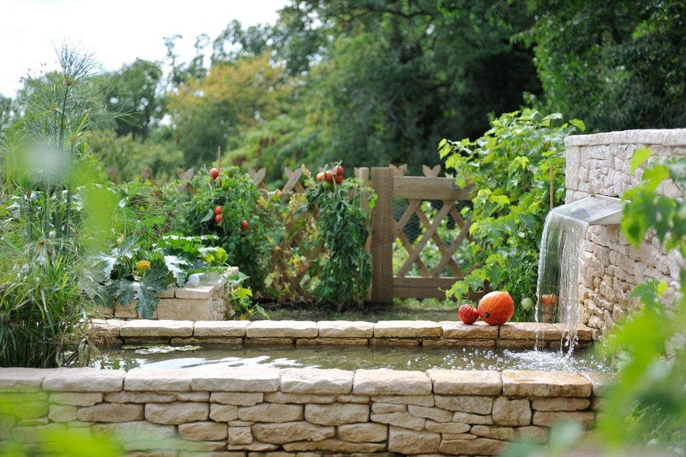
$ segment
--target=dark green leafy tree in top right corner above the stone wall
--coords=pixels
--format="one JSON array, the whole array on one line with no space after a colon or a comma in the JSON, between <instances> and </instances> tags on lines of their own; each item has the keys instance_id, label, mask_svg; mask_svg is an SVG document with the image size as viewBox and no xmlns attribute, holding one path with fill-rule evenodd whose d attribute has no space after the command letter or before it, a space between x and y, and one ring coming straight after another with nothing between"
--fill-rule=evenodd
<instances>
[{"instance_id":1,"label":"dark green leafy tree in top right corner above the stone wall","mask_svg":"<svg viewBox=\"0 0 686 457\"><path fill-rule=\"evenodd\" d=\"M547 109L592 131L686 123L686 3L680 0L535 2L520 35L534 45Z\"/></svg>"}]
</instances>

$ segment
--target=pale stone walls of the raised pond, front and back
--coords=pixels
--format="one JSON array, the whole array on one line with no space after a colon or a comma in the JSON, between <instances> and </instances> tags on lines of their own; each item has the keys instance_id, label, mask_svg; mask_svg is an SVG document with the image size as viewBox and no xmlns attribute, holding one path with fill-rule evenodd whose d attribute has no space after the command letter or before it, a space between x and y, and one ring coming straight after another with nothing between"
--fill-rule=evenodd
<instances>
[{"instance_id":1,"label":"pale stone walls of the raised pond, front and back","mask_svg":"<svg viewBox=\"0 0 686 457\"><path fill-rule=\"evenodd\" d=\"M453 344L533 347L532 323L427 321L103 321L137 338L255 343ZM549 343L560 328L546 327ZM590 330L581 334L590 341ZM502 338L501 338L502 337ZM179 341L179 342L184 342ZM466 343L464 343L467 346ZM44 433L121 437L130 455L497 455L508 442L545 442L572 420L590 429L606 375L525 370L0 368L0 442ZM9 413L8 413L9 411ZM258 454L264 453L264 454Z\"/></svg>"}]
</instances>

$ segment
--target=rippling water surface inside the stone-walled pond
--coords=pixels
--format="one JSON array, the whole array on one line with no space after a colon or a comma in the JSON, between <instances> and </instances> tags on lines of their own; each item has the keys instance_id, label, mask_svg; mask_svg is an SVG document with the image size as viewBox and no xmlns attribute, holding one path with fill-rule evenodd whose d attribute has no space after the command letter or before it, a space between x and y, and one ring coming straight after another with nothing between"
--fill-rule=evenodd
<instances>
[{"instance_id":1,"label":"rippling water surface inside the stone-walled pond","mask_svg":"<svg viewBox=\"0 0 686 457\"><path fill-rule=\"evenodd\" d=\"M96 366L193 368L195 366L261 366L270 368L391 368L393 370L549 370L612 373L607 359L592 350L572 357L554 350L502 348L406 348L389 346L122 346L103 350Z\"/></svg>"}]
</instances>

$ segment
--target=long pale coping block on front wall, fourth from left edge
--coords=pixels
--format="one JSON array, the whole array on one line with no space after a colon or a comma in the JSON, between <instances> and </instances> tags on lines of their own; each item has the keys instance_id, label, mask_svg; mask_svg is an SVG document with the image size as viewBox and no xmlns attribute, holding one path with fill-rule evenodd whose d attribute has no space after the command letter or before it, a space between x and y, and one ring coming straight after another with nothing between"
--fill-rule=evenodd
<instances>
[{"instance_id":1,"label":"long pale coping block on front wall, fourth from left edge","mask_svg":"<svg viewBox=\"0 0 686 457\"><path fill-rule=\"evenodd\" d=\"M276 392L279 390L279 370L272 368L240 368L199 366L193 368L193 391L211 392Z\"/></svg>"}]
</instances>

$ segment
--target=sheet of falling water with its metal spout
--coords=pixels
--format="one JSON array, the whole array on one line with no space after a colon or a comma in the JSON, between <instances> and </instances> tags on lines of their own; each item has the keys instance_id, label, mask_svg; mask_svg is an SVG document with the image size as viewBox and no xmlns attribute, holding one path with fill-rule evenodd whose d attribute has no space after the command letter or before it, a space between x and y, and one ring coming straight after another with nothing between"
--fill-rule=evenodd
<instances>
[{"instance_id":1,"label":"sheet of falling water with its metal spout","mask_svg":"<svg viewBox=\"0 0 686 457\"><path fill-rule=\"evenodd\" d=\"M536 322L563 323L560 341L572 355L579 325L579 258L589 225L619 224L623 202L591 195L553 208L545 218L538 258ZM537 335L538 339L538 335Z\"/></svg>"}]
</instances>

